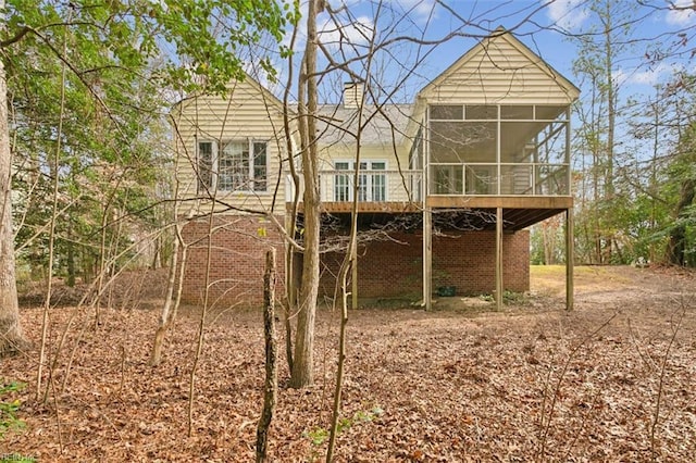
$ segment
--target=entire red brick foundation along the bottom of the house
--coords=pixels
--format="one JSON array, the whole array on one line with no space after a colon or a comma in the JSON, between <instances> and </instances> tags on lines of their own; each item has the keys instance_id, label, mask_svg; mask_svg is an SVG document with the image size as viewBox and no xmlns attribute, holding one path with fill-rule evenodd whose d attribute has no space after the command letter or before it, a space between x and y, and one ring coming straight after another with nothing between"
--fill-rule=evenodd
<instances>
[{"instance_id":1,"label":"entire red brick foundation along the bottom of the house","mask_svg":"<svg viewBox=\"0 0 696 463\"><path fill-rule=\"evenodd\" d=\"M183 230L188 262L183 299L200 304L203 298L208 253L208 221L188 223ZM264 236L265 235L265 236ZM490 293L495 289L495 233L445 232L433 237L433 288L455 286L457 295ZM359 248L358 281L361 298L420 299L423 288L422 234L391 233L393 240L363 243ZM265 251L277 252L276 295L284 295L285 263L282 236L269 221L252 216L215 220L212 241L210 300L221 304L259 306L263 303ZM530 234L505 234L504 287L530 289ZM333 297L343 253L322 255L320 295ZM301 268L301 256L296 259ZM299 279L298 279L299 286Z\"/></svg>"}]
</instances>

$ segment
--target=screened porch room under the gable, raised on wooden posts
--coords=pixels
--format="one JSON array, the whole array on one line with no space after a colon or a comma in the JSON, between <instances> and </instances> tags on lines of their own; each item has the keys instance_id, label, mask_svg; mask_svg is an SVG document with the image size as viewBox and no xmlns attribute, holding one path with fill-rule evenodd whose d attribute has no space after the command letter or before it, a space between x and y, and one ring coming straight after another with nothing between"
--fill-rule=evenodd
<instances>
[{"instance_id":1,"label":"screened porch room under the gable, raised on wooden posts","mask_svg":"<svg viewBox=\"0 0 696 463\"><path fill-rule=\"evenodd\" d=\"M569 108L431 104L431 196L569 196Z\"/></svg>"}]
</instances>

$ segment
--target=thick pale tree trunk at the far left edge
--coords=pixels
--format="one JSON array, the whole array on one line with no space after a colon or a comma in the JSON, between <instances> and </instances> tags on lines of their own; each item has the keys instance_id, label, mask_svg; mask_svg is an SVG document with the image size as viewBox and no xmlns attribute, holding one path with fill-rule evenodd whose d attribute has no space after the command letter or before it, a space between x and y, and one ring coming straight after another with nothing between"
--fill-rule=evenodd
<instances>
[{"instance_id":1,"label":"thick pale tree trunk at the far left edge","mask_svg":"<svg viewBox=\"0 0 696 463\"><path fill-rule=\"evenodd\" d=\"M0 0L0 10L4 10ZM4 29L4 18L0 20ZM20 305L14 273L14 232L12 229L12 154L8 127L8 83L0 60L0 356L27 346L20 324Z\"/></svg>"}]
</instances>

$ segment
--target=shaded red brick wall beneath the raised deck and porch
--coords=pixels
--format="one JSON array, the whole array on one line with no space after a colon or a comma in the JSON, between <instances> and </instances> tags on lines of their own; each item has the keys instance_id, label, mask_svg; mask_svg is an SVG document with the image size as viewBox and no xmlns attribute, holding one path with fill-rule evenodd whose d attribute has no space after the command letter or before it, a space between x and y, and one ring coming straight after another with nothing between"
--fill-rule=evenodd
<instances>
[{"instance_id":1,"label":"shaded red brick wall beneath the raised deck and porch","mask_svg":"<svg viewBox=\"0 0 696 463\"><path fill-rule=\"evenodd\" d=\"M495 233L451 232L433 237L433 288L455 286L457 295L490 293L495 289ZM423 288L422 235L395 233L395 241L360 246L358 256L361 298L419 298ZM530 234L505 234L504 287L530 289ZM343 254L323 258L321 291L332 296Z\"/></svg>"}]
</instances>

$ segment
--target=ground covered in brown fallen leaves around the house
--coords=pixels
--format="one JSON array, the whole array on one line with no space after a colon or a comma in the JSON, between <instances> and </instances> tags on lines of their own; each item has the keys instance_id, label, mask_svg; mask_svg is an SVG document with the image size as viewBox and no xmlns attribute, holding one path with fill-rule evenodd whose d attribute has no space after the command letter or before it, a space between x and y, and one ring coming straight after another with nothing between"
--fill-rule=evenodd
<instances>
[{"instance_id":1,"label":"ground covered in brown fallen leaves around the house","mask_svg":"<svg viewBox=\"0 0 696 463\"><path fill-rule=\"evenodd\" d=\"M577 267L570 313L562 310L563 275L562 267L533 267L530 293L509 298L502 312L482 298L443 298L432 312L352 311L336 461L696 461L696 275ZM22 402L26 427L0 440L0 454L253 461L260 313L208 314L191 402L200 311L183 312L153 368L147 360L157 305L120 303L103 311L98 327L92 312L54 309L47 401L36 400L37 350L2 361L0 377L27 386L2 398ZM23 310L35 345L40 316ZM315 386L285 387L281 353L271 461L324 460L337 317L319 313Z\"/></svg>"}]
</instances>

